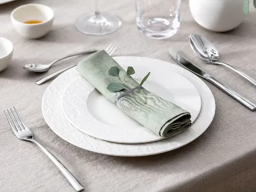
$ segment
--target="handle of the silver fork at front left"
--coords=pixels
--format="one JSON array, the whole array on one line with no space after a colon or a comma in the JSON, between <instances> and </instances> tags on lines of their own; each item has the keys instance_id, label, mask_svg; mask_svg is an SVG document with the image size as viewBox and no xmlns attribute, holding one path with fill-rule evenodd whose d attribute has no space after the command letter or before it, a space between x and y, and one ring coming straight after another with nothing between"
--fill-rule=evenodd
<instances>
[{"instance_id":1,"label":"handle of the silver fork at front left","mask_svg":"<svg viewBox=\"0 0 256 192\"><path fill-rule=\"evenodd\" d=\"M61 173L63 173L63 175L66 177L66 179L68 180L68 182L71 184L71 186L77 191L83 191L84 187L79 183L79 181L67 170L67 168L65 168L65 166L60 163L60 161L54 156L52 155L51 152L49 152L49 150L47 150L47 148L45 148L43 145L41 145L40 143L38 143L36 140L34 139L26 139L27 141L31 141L33 143L35 143L36 145L38 145L38 147L40 147L45 154L52 160L52 162L59 168L59 170L61 171Z\"/></svg>"}]
</instances>

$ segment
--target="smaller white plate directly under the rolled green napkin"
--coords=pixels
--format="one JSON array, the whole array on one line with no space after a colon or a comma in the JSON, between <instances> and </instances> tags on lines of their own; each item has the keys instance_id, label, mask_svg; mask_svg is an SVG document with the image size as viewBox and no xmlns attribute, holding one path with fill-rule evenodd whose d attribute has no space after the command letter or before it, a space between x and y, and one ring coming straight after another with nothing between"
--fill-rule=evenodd
<instances>
[{"instance_id":1,"label":"smaller white plate directly under the rolled green napkin","mask_svg":"<svg viewBox=\"0 0 256 192\"><path fill-rule=\"evenodd\" d=\"M188 79L171 72L172 67L163 65L160 60L147 60L145 63L138 58L117 60L125 69L131 65L134 67L136 74L132 77L138 82L150 71L143 87L189 111L191 121L195 121L200 113L201 98ZM63 113L74 127L94 138L115 143L147 143L163 139L125 115L78 72L77 76L67 86L62 100Z\"/></svg>"}]
</instances>

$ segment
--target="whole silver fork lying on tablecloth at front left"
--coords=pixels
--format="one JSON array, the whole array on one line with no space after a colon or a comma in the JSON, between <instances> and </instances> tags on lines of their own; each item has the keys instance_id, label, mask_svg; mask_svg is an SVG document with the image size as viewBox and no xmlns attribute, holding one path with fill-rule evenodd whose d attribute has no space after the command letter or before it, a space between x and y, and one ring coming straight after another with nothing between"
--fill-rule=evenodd
<instances>
[{"instance_id":1,"label":"whole silver fork lying on tablecloth at front left","mask_svg":"<svg viewBox=\"0 0 256 192\"><path fill-rule=\"evenodd\" d=\"M7 112L6 112L7 111ZM68 182L71 184L71 186L76 190L76 191L83 191L84 187L79 183L79 181L70 173L65 166L60 163L60 161L52 155L47 148L45 148L43 145L38 143L34 138L33 138L33 132L31 132L26 124L23 122L22 118L20 117L19 113L17 113L16 109L10 108L4 111L4 114L6 115L6 118L12 127L13 132L19 138L20 140L25 140L25 141L31 141L38 145L45 154L52 160L54 164L59 168L61 173L67 178Z\"/></svg>"}]
</instances>

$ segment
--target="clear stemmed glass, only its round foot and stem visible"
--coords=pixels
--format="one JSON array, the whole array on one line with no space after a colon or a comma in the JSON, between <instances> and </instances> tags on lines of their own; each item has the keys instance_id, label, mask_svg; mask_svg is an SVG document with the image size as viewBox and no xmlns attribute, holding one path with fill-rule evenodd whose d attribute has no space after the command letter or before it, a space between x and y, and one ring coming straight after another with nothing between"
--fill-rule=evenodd
<instances>
[{"instance_id":1,"label":"clear stemmed glass, only its round foot and stem visible","mask_svg":"<svg viewBox=\"0 0 256 192\"><path fill-rule=\"evenodd\" d=\"M87 35L107 35L120 28L122 21L112 13L100 12L99 1L95 1L95 12L84 13L75 21L78 31Z\"/></svg>"}]
</instances>

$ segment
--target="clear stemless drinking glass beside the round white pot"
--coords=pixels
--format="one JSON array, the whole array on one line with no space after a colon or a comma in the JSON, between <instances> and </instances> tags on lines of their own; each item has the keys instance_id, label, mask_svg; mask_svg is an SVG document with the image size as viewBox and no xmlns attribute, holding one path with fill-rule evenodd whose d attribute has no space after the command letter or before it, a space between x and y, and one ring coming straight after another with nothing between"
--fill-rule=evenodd
<instances>
[{"instance_id":1,"label":"clear stemless drinking glass beside the round white pot","mask_svg":"<svg viewBox=\"0 0 256 192\"><path fill-rule=\"evenodd\" d=\"M136 24L144 35L154 39L169 38L180 27L181 0L136 0Z\"/></svg>"}]
</instances>

